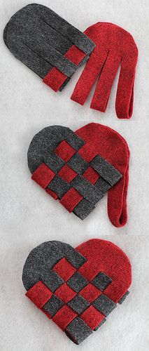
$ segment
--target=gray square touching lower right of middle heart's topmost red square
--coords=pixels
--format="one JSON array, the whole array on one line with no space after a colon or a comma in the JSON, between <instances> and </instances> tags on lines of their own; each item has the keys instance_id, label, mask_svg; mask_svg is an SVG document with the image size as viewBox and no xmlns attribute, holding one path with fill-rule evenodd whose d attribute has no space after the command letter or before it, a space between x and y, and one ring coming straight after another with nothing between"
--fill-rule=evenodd
<instances>
[{"instance_id":1,"label":"gray square touching lower right of middle heart's topmost red square","mask_svg":"<svg viewBox=\"0 0 149 351\"><path fill-rule=\"evenodd\" d=\"M73 157L69 159L67 164L69 164L73 171L80 175L82 175L89 167L89 164L80 156L80 154L73 154Z\"/></svg>"}]
</instances>

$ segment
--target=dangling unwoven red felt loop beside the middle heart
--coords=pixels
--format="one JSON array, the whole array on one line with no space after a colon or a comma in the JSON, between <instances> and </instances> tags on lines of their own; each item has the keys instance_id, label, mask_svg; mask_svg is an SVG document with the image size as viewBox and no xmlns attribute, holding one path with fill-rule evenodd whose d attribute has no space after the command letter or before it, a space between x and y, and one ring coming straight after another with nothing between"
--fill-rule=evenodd
<instances>
[{"instance_id":1,"label":"dangling unwoven red felt loop beside the middle heart","mask_svg":"<svg viewBox=\"0 0 149 351\"><path fill-rule=\"evenodd\" d=\"M108 218L115 227L127 223L127 187L129 182L129 165L120 181L108 190Z\"/></svg>"}]
</instances>

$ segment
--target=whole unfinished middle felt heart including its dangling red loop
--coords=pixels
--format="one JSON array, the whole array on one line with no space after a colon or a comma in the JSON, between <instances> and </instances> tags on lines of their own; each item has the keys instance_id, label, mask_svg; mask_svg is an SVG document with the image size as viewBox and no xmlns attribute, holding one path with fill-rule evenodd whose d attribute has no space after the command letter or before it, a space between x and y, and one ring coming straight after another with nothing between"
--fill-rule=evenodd
<instances>
[{"instance_id":1,"label":"whole unfinished middle felt heart including its dangling red loop","mask_svg":"<svg viewBox=\"0 0 149 351\"><path fill-rule=\"evenodd\" d=\"M27 157L31 178L69 213L84 220L108 191L111 223L127 223L129 149L111 128L94 123L75 133L64 126L43 128Z\"/></svg>"}]
</instances>

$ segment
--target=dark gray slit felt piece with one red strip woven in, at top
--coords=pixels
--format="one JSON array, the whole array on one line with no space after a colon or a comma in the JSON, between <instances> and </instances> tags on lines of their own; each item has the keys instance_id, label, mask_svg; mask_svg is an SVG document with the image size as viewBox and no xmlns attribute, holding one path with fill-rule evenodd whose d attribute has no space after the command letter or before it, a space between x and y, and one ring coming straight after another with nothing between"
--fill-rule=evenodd
<instances>
[{"instance_id":1,"label":"dark gray slit felt piece with one red strip woven in, at top","mask_svg":"<svg viewBox=\"0 0 149 351\"><path fill-rule=\"evenodd\" d=\"M6 25L3 39L10 52L38 74L45 84L50 85L53 67L62 72L64 84L60 90L76 69L88 60L95 47L85 34L50 8L38 4L17 11ZM69 49L71 55L67 54Z\"/></svg>"}]
</instances>

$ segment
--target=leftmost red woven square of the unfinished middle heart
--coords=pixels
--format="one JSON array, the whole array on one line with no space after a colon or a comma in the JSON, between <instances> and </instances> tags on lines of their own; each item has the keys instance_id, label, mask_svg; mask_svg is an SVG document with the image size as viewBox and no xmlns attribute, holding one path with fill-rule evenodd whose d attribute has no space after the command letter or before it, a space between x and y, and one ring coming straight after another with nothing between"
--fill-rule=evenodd
<instances>
[{"instance_id":1,"label":"leftmost red woven square of the unfinished middle heart","mask_svg":"<svg viewBox=\"0 0 149 351\"><path fill-rule=\"evenodd\" d=\"M41 166L38 166L36 171L34 171L31 179L45 189L54 177L55 173L46 164L41 164Z\"/></svg>"}]
</instances>

